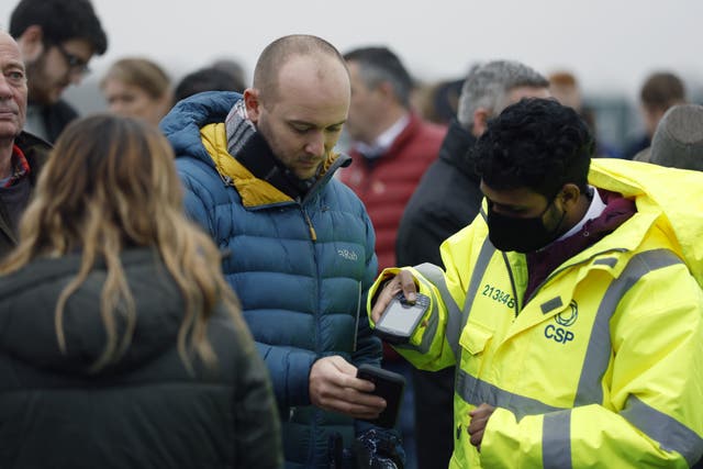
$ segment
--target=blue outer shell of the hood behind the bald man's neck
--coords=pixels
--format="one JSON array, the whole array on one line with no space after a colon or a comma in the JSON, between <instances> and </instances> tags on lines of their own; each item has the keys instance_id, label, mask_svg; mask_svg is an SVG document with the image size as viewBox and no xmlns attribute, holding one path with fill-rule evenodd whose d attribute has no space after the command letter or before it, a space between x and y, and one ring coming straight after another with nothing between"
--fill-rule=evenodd
<instances>
[{"instance_id":1,"label":"blue outer shell of the hood behind the bald man's neck","mask_svg":"<svg viewBox=\"0 0 703 469\"><path fill-rule=\"evenodd\" d=\"M214 167L202 145L200 129L224 122L239 99L242 94L233 91L205 91L179 101L159 124L176 157L188 155Z\"/></svg>"}]
</instances>

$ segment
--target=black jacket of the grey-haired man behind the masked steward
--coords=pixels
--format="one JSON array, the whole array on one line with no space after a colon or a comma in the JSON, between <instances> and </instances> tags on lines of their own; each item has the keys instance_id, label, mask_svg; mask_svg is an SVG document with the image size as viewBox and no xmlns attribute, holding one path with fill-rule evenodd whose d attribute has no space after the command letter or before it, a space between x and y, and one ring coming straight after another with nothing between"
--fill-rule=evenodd
<instances>
[{"instance_id":1,"label":"black jacket of the grey-haired man behind the masked steward","mask_svg":"<svg viewBox=\"0 0 703 469\"><path fill-rule=\"evenodd\" d=\"M479 213L483 194L468 149L476 138L454 120L439 157L429 165L405 206L398 228L399 266L442 266L439 245Z\"/></svg>"}]
</instances>

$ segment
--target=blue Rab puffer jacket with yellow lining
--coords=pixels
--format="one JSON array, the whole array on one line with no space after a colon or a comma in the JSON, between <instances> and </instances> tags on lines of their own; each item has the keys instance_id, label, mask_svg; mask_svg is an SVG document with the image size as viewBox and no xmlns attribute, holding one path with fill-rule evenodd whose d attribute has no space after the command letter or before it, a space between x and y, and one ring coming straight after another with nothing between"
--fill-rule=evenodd
<instances>
[{"instance_id":1,"label":"blue Rab puffer jacket with yellow lining","mask_svg":"<svg viewBox=\"0 0 703 469\"><path fill-rule=\"evenodd\" d=\"M239 99L197 94L177 104L161 130L176 150L186 210L226 253L225 277L271 373L287 467L326 467L331 434L349 446L355 427L310 405L310 369L328 355L380 362L380 342L359 317L377 272L373 228L358 198L333 178L348 157L330 158L302 201L232 158L223 122ZM356 426L357 434L368 428Z\"/></svg>"}]
</instances>

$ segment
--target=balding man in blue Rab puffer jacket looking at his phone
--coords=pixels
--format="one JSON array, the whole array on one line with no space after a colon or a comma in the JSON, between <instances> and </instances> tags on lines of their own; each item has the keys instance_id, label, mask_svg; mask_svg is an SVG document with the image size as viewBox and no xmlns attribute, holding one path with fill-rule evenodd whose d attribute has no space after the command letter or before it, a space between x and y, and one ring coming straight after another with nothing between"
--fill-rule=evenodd
<instances>
[{"instance_id":1,"label":"balding man in blue Rab puffer jacket looking at his phone","mask_svg":"<svg viewBox=\"0 0 703 469\"><path fill-rule=\"evenodd\" d=\"M359 365L380 365L381 346L359 319L377 271L373 228L333 177L350 163L333 152L349 100L337 49L291 35L264 49L243 96L197 94L161 122L186 210L221 246L269 367L287 468L341 464L355 437L402 458L394 433L355 422L386 402L356 378Z\"/></svg>"}]
</instances>

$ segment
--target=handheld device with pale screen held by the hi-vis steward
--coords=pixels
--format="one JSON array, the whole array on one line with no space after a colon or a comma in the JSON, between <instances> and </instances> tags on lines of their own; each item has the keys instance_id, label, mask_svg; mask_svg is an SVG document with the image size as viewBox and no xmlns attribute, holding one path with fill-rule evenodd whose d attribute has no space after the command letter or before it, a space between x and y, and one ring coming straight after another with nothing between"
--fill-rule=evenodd
<instances>
[{"instance_id":1,"label":"handheld device with pale screen held by the hi-vis steward","mask_svg":"<svg viewBox=\"0 0 703 469\"><path fill-rule=\"evenodd\" d=\"M375 334L391 344L406 344L429 308L427 295L416 295L414 303L409 303L402 292L393 297L376 322Z\"/></svg>"}]
</instances>

